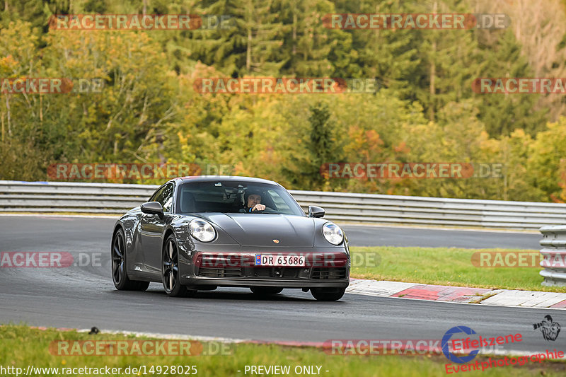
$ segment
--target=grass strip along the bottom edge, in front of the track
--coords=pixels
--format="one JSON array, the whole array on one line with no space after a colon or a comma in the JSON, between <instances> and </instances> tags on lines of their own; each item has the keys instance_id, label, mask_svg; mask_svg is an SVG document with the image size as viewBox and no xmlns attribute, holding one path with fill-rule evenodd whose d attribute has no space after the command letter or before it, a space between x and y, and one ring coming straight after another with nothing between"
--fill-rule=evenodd
<instances>
[{"instance_id":1,"label":"grass strip along the bottom edge, in front of the track","mask_svg":"<svg viewBox=\"0 0 566 377\"><path fill-rule=\"evenodd\" d=\"M57 340L134 340L125 335L47 329L38 330L25 325L0 327L0 366L61 368L126 369L128 366L196 366L196 376L246 376L246 365L322 366L320 376L446 376L446 358L442 355L418 356L336 356L311 347L285 347L272 344L233 344L231 354L216 356L58 356L50 352L50 344ZM56 353L56 352L55 352ZM487 360L487 359L486 359ZM241 372L238 373L238 370ZM316 370L316 369L315 369ZM328 372L326 372L328 370ZM464 373L464 372L463 372ZM465 372L465 376L564 376L566 364L545 362L524 366L503 366L486 371ZM461 374L461 373L458 373ZM45 376L54 374L44 373ZM86 374L84 374L86 375ZM91 374L96 375L96 374ZM164 376L164 374L161 374ZM176 376L178 373L169 374ZM183 373L184 375L184 373ZM9 376L9 375L8 375ZM64 376L59 374L59 376ZM108 376L108 375L106 375ZM120 376L126 376L124 373ZM129 374L129 376L134 376ZM141 373L141 376L144 376ZM151 376L149 373L146 376ZM188 374L187 374L188 376ZM194 376L194 374L193 374ZM247 376L251 376L248 372ZM258 375L255 375L258 376ZM264 375L265 376L265 375ZM289 376L296 376L290 373ZM30 377L30 376L26 376Z\"/></svg>"}]
</instances>

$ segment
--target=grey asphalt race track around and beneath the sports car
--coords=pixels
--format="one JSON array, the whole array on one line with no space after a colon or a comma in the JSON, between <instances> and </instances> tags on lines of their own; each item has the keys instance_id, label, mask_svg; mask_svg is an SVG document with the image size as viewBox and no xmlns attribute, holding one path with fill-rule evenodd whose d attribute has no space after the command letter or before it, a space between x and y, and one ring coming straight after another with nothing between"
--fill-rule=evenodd
<instances>
[{"instance_id":1,"label":"grey asphalt race track around and beneath the sports car","mask_svg":"<svg viewBox=\"0 0 566 377\"><path fill-rule=\"evenodd\" d=\"M544 315L566 324L566 312L437 303L346 294L323 303L286 289L269 300L248 289L217 289L168 298L160 284L146 292L115 290L110 277L112 219L0 216L0 251L98 255L95 266L1 268L0 323L129 330L241 340L324 342L332 339L437 340L456 325L483 337L521 333L505 351L563 349L566 337L543 340L533 323ZM538 248L537 234L345 226L352 245ZM420 241L420 243L419 243Z\"/></svg>"}]
</instances>

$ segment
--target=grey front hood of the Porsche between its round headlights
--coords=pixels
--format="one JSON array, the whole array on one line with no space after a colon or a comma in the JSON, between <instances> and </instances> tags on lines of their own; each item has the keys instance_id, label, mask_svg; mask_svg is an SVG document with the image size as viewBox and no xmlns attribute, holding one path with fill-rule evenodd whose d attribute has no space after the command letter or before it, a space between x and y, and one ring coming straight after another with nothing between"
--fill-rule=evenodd
<instances>
[{"instance_id":1,"label":"grey front hood of the Porsche between its round headlights","mask_svg":"<svg viewBox=\"0 0 566 377\"><path fill-rule=\"evenodd\" d=\"M314 219L282 214L200 214L242 246L312 248ZM274 240L279 240L275 243Z\"/></svg>"}]
</instances>

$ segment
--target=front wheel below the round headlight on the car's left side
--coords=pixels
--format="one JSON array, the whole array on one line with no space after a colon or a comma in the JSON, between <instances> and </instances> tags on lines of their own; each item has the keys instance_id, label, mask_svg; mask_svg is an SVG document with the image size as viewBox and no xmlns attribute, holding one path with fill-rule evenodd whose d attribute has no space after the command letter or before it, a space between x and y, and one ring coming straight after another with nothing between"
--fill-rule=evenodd
<instances>
[{"instance_id":1,"label":"front wheel below the round headlight on the car's left side","mask_svg":"<svg viewBox=\"0 0 566 377\"><path fill-rule=\"evenodd\" d=\"M167 296L171 297L189 297L195 296L197 291L187 289L186 286L180 284L179 277L179 251L175 236L171 234L163 245L161 253L161 282Z\"/></svg>"}]
</instances>

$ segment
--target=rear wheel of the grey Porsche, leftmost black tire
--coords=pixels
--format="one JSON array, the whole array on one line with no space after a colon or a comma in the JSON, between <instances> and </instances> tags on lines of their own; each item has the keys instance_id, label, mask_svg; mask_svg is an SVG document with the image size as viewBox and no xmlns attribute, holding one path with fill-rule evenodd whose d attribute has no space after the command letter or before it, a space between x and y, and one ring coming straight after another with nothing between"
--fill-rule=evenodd
<instances>
[{"instance_id":1,"label":"rear wheel of the grey Porsche, leftmost black tire","mask_svg":"<svg viewBox=\"0 0 566 377\"><path fill-rule=\"evenodd\" d=\"M122 228L119 228L112 237L110 255L112 255L112 282L118 291L145 291L147 289L149 282L131 280L128 277L126 238Z\"/></svg>"}]
</instances>

